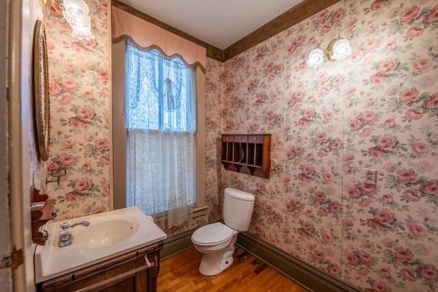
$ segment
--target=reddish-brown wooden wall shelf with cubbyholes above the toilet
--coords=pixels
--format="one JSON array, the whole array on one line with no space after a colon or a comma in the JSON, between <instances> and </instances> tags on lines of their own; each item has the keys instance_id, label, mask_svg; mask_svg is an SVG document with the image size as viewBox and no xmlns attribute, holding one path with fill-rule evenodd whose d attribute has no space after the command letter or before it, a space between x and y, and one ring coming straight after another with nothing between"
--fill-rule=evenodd
<instances>
[{"instance_id":1,"label":"reddish-brown wooden wall shelf with cubbyholes above the toilet","mask_svg":"<svg viewBox=\"0 0 438 292\"><path fill-rule=\"evenodd\" d=\"M271 134L222 135L220 163L226 170L269 178Z\"/></svg>"}]
</instances>

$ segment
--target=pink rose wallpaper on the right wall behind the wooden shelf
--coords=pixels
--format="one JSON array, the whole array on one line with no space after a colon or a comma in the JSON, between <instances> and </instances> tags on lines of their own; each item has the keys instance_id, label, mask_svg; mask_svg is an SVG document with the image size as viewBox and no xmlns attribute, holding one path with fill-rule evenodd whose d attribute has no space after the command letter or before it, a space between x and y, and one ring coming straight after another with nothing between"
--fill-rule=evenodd
<instances>
[{"instance_id":1,"label":"pink rose wallpaper on the right wall behind the wooden shelf","mask_svg":"<svg viewBox=\"0 0 438 292\"><path fill-rule=\"evenodd\" d=\"M308 68L344 36L347 59ZM346 0L224 64L223 133L271 133L250 233L363 291L438 290L438 5ZM364 184L364 171L377 184Z\"/></svg>"}]
</instances>

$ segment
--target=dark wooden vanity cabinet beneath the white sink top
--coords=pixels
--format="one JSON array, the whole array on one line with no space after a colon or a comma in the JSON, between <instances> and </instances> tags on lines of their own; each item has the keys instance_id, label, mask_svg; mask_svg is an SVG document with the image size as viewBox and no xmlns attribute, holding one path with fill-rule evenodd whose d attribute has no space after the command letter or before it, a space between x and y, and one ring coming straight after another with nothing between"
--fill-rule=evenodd
<instances>
[{"instance_id":1,"label":"dark wooden vanity cabinet beneath the white sink top","mask_svg":"<svg viewBox=\"0 0 438 292\"><path fill-rule=\"evenodd\" d=\"M157 291L163 241L37 284L37 291ZM148 258L148 261L145 260Z\"/></svg>"}]
</instances>

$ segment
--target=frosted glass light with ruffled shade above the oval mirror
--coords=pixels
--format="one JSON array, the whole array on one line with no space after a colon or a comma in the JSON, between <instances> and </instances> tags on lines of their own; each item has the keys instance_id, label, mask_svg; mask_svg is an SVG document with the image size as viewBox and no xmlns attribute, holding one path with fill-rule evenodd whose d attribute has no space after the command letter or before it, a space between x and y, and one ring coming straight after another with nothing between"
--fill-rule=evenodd
<instances>
[{"instance_id":1,"label":"frosted glass light with ruffled shade above the oval mirror","mask_svg":"<svg viewBox=\"0 0 438 292\"><path fill-rule=\"evenodd\" d=\"M94 36L91 33L91 17L88 5L83 0L62 0L62 4L51 0L55 10L62 11L62 16L73 29L71 36L78 40L90 40Z\"/></svg>"}]
</instances>

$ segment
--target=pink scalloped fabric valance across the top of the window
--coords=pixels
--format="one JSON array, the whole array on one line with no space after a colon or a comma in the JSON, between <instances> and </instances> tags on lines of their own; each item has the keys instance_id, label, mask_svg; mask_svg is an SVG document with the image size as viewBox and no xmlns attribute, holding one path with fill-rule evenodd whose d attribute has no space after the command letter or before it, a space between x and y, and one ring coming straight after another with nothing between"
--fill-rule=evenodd
<instances>
[{"instance_id":1,"label":"pink scalloped fabric valance across the top of the window","mask_svg":"<svg viewBox=\"0 0 438 292\"><path fill-rule=\"evenodd\" d=\"M168 57L180 55L189 65L206 68L207 49L112 6L112 38L131 38L139 47L159 47Z\"/></svg>"}]
</instances>

